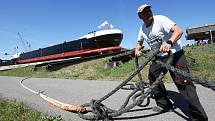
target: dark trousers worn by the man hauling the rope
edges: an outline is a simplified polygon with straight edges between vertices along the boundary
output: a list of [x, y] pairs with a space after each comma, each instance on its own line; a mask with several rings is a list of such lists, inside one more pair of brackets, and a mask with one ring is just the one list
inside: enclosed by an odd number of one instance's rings
[[[168, 60], [168, 58], [159, 57], [156, 57], [155, 59], [160, 60], [162, 62], [166, 62]], [[183, 71], [189, 72], [186, 57], [184, 55], [183, 50], [178, 51], [173, 55], [173, 61], [171, 65]], [[167, 73], [167, 71], [168, 70], [166, 68], [153, 61], [150, 65], [148, 75], [150, 83], [153, 83], [161, 72]], [[193, 82], [182, 75], [176, 74], [170, 70], [169, 72], [179, 92], [182, 94], [182, 96], [188, 103], [188, 113], [190, 115], [190, 120], [207, 121], [208, 117], [199, 101], [199, 98], [196, 93], [196, 87], [194, 86]], [[167, 91], [162, 81], [153, 90], [153, 94], [155, 96], [155, 101], [158, 106], [164, 109], [172, 108], [172, 103], [167, 96]]]

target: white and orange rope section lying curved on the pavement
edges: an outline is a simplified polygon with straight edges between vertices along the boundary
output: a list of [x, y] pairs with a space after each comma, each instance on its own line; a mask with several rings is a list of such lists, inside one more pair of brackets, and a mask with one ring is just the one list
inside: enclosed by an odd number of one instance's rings
[[28, 91], [36, 94], [36, 95], [39, 95], [42, 99], [44, 99], [45, 101], [47, 101], [48, 103], [58, 107], [58, 108], [61, 108], [63, 110], [66, 110], [66, 111], [71, 111], [71, 112], [81, 112], [81, 113], [85, 113], [86, 112], [86, 108], [82, 107], [82, 106], [76, 106], [76, 105], [71, 105], [71, 104], [66, 104], [66, 103], [63, 103], [63, 102], [60, 102], [56, 99], [53, 99], [53, 98], [50, 98], [48, 97], [47, 95], [43, 94], [44, 91], [35, 91], [35, 90], [32, 90], [30, 89], [29, 87], [25, 86], [23, 84], [23, 82], [27, 79], [29, 79], [31, 77], [27, 77], [27, 78], [24, 78], [20, 81], [20, 84], [23, 88], [27, 89]]

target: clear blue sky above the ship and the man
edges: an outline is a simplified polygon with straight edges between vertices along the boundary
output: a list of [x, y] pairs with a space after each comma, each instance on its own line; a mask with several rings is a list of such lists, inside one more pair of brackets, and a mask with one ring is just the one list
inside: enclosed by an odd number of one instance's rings
[[4, 53], [12, 54], [14, 47], [24, 51], [18, 32], [34, 50], [99, 30], [106, 20], [123, 31], [121, 46], [134, 48], [142, 24], [136, 11], [144, 3], [154, 15], [175, 21], [184, 35], [189, 26], [215, 22], [214, 0], [0, 0], [0, 59], [8, 59]]

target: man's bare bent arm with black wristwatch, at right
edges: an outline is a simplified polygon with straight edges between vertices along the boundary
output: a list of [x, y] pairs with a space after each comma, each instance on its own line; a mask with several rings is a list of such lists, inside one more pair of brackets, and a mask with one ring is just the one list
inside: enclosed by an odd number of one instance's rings
[[169, 42], [161, 45], [161, 47], [160, 47], [161, 52], [168, 52], [170, 50], [172, 44], [177, 42], [183, 34], [183, 31], [177, 25], [174, 25], [170, 31], [172, 32], [172, 36], [170, 37]]

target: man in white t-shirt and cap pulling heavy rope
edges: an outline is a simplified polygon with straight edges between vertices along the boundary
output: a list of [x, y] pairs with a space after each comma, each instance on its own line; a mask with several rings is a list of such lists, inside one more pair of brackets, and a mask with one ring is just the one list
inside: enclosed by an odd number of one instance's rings
[[[176, 25], [176, 23], [163, 15], [153, 16], [150, 5], [141, 5], [138, 8], [137, 13], [139, 18], [143, 20], [144, 23], [140, 27], [135, 55], [141, 55], [140, 49], [143, 45], [143, 41], [146, 41], [152, 50], [159, 50], [161, 52], [160, 54], [156, 55], [155, 60], [166, 62], [168, 60], [167, 52], [171, 50], [173, 53], [173, 61], [171, 65], [189, 72], [184, 51], [180, 42], [183, 32]], [[156, 78], [158, 78], [161, 72], [166, 73], [168, 71], [166, 68], [156, 63], [155, 60], [150, 65], [148, 74], [151, 84], [156, 81]], [[196, 87], [194, 86], [193, 82], [177, 73], [172, 71], [169, 72], [179, 92], [183, 95], [188, 103], [190, 119], [193, 121], [207, 121], [208, 117], [199, 102], [196, 93]], [[167, 112], [173, 109], [163, 82], [161, 82], [153, 90], [153, 94], [157, 104], [157, 106], [153, 108], [154, 111]]]

